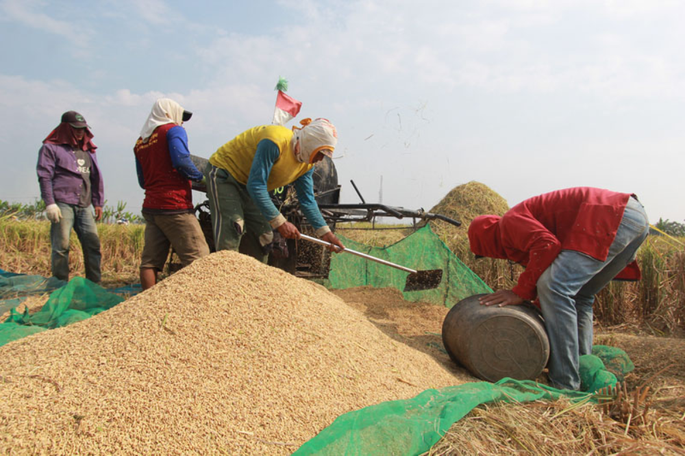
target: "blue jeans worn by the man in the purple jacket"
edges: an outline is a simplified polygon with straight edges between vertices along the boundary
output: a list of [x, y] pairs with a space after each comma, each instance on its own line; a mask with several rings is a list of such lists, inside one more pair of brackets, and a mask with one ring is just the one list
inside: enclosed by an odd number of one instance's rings
[[97, 236], [95, 218], [90, 207], [79, 207], [58, 202], [62, 220], [50, 226], [52, 244], [52, 275], [60, 280], [69, 280], [69, 235], [71, 229], [81, 242], [86, 266], [86, 279], [99, 283], [100, 275], [100, 238]]

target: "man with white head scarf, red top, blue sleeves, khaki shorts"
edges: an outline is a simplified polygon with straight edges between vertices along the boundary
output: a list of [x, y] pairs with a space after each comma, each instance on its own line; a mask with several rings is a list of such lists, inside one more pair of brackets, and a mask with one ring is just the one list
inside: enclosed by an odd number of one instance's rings
[[195, 217], [190, 181], [202, 173], [190, 160], [188, 135], [182, 127], [192, 116], [171, 99], [158, 99], [134, 147], [138, 183], [145, 189], [142, 216], [145, 246], [140, 260], [140, 285], [157, 283], [173, 247], [182, 266], [209, 255], [209, 247]]

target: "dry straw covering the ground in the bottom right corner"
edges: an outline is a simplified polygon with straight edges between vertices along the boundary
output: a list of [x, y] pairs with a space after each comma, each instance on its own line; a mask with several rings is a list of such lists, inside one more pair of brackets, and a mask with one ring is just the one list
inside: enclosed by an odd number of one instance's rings
[[603, 333], [595, 343], [630, 355], [636, 369], [625, 388], [637, 413], [567, 401], [488, 405], [453, 425], [428, 454], [685, 455], [685, 340]]

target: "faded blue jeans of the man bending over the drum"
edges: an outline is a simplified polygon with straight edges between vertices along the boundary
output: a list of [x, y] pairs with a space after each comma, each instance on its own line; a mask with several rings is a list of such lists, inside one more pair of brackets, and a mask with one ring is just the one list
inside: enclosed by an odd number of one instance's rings
[[630, 198], [605, 261], [563, 250], [538, 279], [549, 337], [549, 380], [555, 388], [580, 389], [580, 355], [592, 353], [595, 294], [635, 259], [647, 233], [645, 208]]

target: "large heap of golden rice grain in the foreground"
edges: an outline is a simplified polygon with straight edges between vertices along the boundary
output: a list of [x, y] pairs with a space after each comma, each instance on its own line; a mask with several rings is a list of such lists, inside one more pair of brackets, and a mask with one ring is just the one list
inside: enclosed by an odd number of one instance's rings
[[1, 347], [0, 453], [286, 454], [456, 383], [325, 288], [224, 251]]

